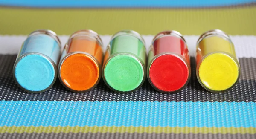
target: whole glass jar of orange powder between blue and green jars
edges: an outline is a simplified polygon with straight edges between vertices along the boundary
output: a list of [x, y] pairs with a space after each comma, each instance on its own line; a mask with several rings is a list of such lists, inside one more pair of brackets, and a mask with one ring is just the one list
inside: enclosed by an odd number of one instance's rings
[[58, 77], [68, 90], [87, 92], [99, 83], [102, 60], [102, 40], [99, 35], [92, 30], [77, 31], [64, 46]]

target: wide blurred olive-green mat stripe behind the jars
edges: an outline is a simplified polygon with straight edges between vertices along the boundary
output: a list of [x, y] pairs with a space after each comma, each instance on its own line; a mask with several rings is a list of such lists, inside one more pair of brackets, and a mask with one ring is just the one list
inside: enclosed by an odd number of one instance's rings
[[256, 6], [212, 9], [22, 9], [0, 8], [0, 34], [26, 35], [36, 29], [52, 29], [70, 35], [79, 29], [113, 34], [133, 29], [156, 34], [175, 29], [184, 35], [200, 35], [222, 29], [230, 35], [256, 35]]

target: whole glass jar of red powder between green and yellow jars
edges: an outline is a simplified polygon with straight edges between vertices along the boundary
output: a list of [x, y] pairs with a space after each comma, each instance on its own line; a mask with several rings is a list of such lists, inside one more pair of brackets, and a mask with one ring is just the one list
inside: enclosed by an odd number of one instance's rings
[[189, 50], [180, 32], [158, 33], [148, 53], [150, 84], [161, 93], [174, 93], [186, 87], [190, 75]]

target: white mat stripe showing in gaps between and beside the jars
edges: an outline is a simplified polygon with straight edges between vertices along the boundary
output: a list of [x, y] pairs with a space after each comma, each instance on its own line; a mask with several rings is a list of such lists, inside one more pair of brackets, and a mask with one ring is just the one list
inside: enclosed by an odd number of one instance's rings
[[[0, 35], [0, 54], [17, 54], [26, 37], [26, 35]], [[69, 36], [60, 35], [59, 37], [62, 46], [64, 46]], [[143, 35], [147, 49], [153, 37], [153, 35]], [[195, 56], [195, 43], [199, 36], [185, 35], [184, 37], [189, 47], [190, 55]], [[111, 39], [111, 35], [102, 35], [101, 38], [105, 49]], [[231, 35], [230, 38], [235, 45], [236, 55], [239, 58], [256, 58], [256, 36]]]

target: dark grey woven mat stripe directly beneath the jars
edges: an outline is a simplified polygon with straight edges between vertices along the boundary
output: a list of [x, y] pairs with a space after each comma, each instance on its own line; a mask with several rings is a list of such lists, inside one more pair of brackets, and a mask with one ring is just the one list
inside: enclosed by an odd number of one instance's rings
[[32, 94], [21, 90], [12, 78], [16, 55], [0, 55], [0, 100], [5, 101], [184, 101], [184, 102], [256, 102], [256, 58], [239, 58], [241, 77], [226, 93], [209, 93], [198, 83], [195, 58], [191, 59], [192, 76], [188, 86], [175, 94], [158, 93], [145, 81], [134, 93], [113, 93], [103, 81], [87, 93], [72, 93], [60, 81], [45, 93]]

